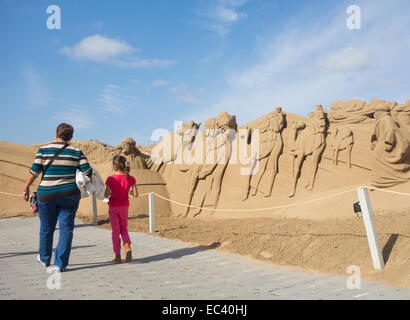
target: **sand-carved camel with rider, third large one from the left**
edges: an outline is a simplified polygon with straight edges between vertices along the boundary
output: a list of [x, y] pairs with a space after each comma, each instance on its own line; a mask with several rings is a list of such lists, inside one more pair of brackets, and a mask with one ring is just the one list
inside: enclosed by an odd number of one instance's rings
[[[258, 172], [249, 175], [245, 194], [241, 197], [242, 201], [248, 199], [250, 189], [252, 189], [252, 196], [256, 195], [258, 190], [262, 191], [265, 197], [271, 196], [275, 177], [278, 173], [279, 155], [283, 149], [281, 133], [284, 126], [285, 117], [281, 107], [277, 107], [274, 112], [265, 115], [259, 122], [256, 128], [259, 130], [259, 155], [257, 159], [254, 159], [254, 161], [259, 161]], [[265, 174], [268, 176], [268, 183], [260, 186], [261, 179]], [[263, 187], [265, 189], [260, 190]]]

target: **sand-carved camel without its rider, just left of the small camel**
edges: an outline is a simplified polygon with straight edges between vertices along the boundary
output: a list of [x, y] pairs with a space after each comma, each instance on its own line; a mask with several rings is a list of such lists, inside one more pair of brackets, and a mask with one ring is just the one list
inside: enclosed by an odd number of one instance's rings
[[[306, 156], [312, 155], [312, 171], [309, 183], [305, 186], [312, 190], [315, 183], [319, 161], [325, 149], [324, 133], [317, 133], [311, 126], [302, 121], [293, 121], [291, 126], [289, 150], [293, 156], [292, 161], [292, 186], [289, 197], [296, 192], [296, 183]], [[296, 167], [296, 170], [295, 170]]]

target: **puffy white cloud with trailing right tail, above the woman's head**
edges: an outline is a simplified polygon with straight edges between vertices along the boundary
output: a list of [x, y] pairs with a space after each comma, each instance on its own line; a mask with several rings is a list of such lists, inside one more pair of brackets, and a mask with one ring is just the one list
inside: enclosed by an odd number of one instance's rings
[[135, 55], [138, 49], [125, 41], [101, 35], [86, 37], [72, 47], [65, 46], [60, 53], [77, 60], [91, 60], [122, 68], [168, 67], [175, 60], [140, 58]]

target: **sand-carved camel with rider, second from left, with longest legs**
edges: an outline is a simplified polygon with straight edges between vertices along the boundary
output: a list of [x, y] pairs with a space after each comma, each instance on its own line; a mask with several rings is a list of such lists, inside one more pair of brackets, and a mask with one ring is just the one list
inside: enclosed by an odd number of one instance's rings
[[[231, 137], [236, 135], [236, 117], [221, 112], [217, 118], [210, 118], [204, 126], [203, 145], [205, 152], [201, 163], [193, 164], [188, 170], [187, 196], [185, 203], [191, 205], [192, 198], [200, 180], [205, 180], [206, 192], [199, 206], [216, 208], [221, 193], [222, 179], [228, 165], [231, 150]], [[183, 213], [189, 214], [189, 207]], [[200, 213], [200, 211], [199, 211]], [[198, 214], [199, 214], [198, 213]]]

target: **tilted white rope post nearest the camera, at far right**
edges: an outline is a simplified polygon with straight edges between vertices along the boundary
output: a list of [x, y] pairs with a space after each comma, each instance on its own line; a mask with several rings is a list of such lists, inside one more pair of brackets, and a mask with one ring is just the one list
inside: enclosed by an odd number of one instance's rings
[[380, 241], [379, 236], [377, 235], [376, 223], [374, 221], [369, 192], [367, 191], [367, 188], [359, 188], [357, 189], [357, 194], [359, 196], [360, 208], [363, 214], [363, 222], [366, 228], [367, 240], [369, 241], [373, 267], [376, 270], [382, 270], [384, 268], [384, 260], [380, 249]]

